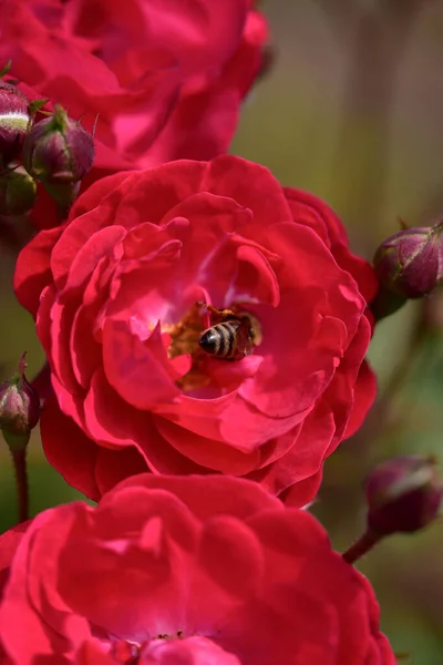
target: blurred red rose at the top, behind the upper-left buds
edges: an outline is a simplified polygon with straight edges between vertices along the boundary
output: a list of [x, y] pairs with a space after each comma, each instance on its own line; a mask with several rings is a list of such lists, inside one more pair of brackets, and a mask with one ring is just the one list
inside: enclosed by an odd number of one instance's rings
[[2, 0], [0, 62], [92, 130], [95, 170], [226, 152], [260, 72], [253, 0]]

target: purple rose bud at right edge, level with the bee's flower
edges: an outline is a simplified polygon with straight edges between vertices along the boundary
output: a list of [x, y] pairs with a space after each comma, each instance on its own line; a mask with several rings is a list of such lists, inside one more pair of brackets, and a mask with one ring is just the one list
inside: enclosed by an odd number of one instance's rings
[[405, 298], [420, 298], [441, 282], [443, 223], [404, 228], [383, 241], [373, 264], [381, 285]]

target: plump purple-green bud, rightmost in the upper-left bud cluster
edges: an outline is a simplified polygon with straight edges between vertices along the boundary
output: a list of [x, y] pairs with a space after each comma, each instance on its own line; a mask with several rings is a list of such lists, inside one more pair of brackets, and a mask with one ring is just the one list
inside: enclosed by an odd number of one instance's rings
[[94, 140], [61, 106], [35, 123], [23, 145], [23, 166], [44, 185], [78, 183], [94, 161]]

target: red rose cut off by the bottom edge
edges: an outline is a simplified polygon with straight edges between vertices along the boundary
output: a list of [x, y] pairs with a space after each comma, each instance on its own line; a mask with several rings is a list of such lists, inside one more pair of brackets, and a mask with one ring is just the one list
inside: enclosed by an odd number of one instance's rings
[[18, 665], [395, 663], [369, 582], [312, 515], [216, 475], [138, 475], [38, 515], [0, 638]]

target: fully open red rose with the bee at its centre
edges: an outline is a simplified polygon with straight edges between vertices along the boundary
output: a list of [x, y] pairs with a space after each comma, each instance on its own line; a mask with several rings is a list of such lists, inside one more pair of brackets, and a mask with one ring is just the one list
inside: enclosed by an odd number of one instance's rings
[[[374, 397], [372, 268], [326, 204], [239, 157], [99, 181], [14, 282], [52, 371], [47, 457], [91, 498], [145, 470], [217, 471], [305, 504]], [[257, 323], [250, 355], [200, 348], [218, 320], [202, 301]]]

